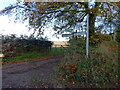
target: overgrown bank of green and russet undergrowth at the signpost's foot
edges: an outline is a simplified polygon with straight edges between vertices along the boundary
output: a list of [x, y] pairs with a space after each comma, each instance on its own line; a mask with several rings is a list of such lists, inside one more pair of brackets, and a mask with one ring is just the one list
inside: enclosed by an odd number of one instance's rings
[[65, 58], [57, 69], [60, 82], [67, 88], [117, 87], [117, 49], [117, 43], [107, 41], [100, 44], [100, 47], [92, 52], [91, 58], [86, 58], [83, 55], [77, 59]]

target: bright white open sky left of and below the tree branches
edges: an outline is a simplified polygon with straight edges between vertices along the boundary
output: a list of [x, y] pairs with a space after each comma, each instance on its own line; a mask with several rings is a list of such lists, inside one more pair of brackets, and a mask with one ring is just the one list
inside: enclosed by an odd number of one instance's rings
[[[15, 3], [17, 0], [0, 0], [0, 10], [4, 9], [5, 7], [9, 6], [10, 4]], [[28, 23], [15, 23], [14, 20], [9, 21], [8, 16], [0, 16], [0, 34], [2, 35], [10, 35], [16, 34], [17, 36], [22, 35], [30, 35], [33, 31], [28, 31], [28, 28], [25, 27]], [[66, 41], [65, 38], [56, 38], [53, 36], [54, 31], [52, 28], [48, 28], [47, 31], [44, 33], [44, 37], [47, 36], [51, 41]]]

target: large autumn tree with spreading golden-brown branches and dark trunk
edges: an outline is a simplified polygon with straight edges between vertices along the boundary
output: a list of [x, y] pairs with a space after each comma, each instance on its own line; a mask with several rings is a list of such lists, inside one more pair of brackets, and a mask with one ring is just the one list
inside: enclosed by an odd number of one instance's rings
[[30, 26], [39, 30], [39, 34], [42, 34], [43, 28], [51, 22], [54, 23], [54, 29], [58, 33], [73, 32], [75, 28], [80, 28], [81, 22], [89, 14], [91, 38], [96, 30], [96, 20], [108, 24], [109, 18], [114, 18], [118, 14], [118, 12], [113, 13], [117, 8], [116, 4], [109, 2], [25, 2], [23, 6], [19, 4], [17, 6], [24, 9], [22, 11], [24, 19], [29, 18]]

